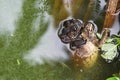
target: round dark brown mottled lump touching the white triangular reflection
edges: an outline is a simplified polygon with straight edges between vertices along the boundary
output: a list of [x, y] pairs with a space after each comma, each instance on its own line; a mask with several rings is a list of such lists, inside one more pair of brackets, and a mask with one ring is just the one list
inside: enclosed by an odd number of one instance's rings
[[70, 43], [80, 34], [83, 22], [79, 19], [66, 19], [61, 21], [58, 36], [63, 43]]

